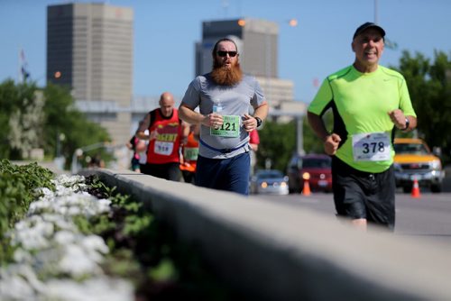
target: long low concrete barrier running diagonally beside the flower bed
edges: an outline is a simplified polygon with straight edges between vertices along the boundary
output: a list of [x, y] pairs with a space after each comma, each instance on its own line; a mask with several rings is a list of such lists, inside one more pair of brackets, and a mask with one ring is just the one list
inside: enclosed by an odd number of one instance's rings
[[127, 170], [81, 174], [143, 201], [249, 299], [451, 300], [449, 244]]

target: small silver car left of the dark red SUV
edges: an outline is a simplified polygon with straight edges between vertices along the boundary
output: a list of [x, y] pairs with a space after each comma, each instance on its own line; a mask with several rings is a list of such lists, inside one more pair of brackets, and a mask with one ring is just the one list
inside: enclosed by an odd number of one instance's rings
[[251, 194], [288, 195], [288, 177], [281, 170], [258, 169], [250, 182]]

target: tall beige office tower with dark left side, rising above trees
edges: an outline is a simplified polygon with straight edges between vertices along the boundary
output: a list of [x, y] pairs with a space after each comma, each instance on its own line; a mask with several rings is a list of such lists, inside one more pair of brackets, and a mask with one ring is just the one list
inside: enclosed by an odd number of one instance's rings
[[48, 6], [47, 81], [69, 87], [78, 108], [116, 143], [128, 141], [133, 10], [102, 3]]

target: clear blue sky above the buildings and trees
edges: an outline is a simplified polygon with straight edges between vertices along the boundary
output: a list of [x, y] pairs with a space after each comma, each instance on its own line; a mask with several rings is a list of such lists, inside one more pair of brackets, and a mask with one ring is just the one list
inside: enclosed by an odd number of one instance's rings
[[[183, 96], [194, 77], [194, 43], [201, 40], [202, 22], [209, 20], [250, 17], [279, 23], [279, 77], [292, 80], [295, 98], [305, 102], [315, 95], [316, 81], [353, 62], [355, 28], [375, 18], [398, 44], [397, 50], [385, 50], [384, 66], [398, 66], [402, 50], [430, 59], [434, 50], [451, 53], [449, 0], [104, 2], [133, 7], [135, 96], [159, 96], [166, 90]], [[62, 3], [67, 1], [0, 0], [0, 81], [17, 78], [23, 49], [32, 78], [45, 85], [46, 6]], [[297, 27], [289, 26], [292, 18]]]

